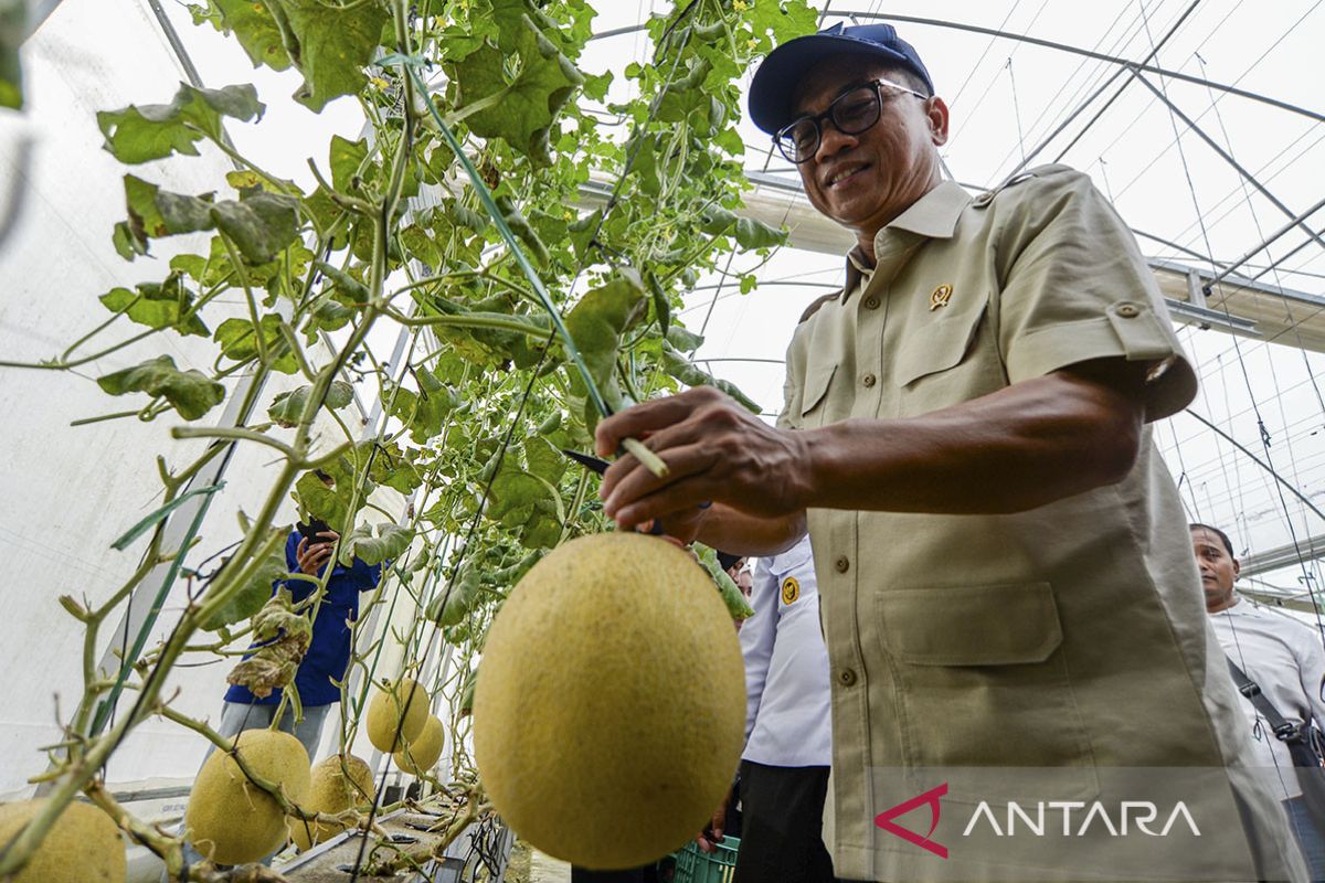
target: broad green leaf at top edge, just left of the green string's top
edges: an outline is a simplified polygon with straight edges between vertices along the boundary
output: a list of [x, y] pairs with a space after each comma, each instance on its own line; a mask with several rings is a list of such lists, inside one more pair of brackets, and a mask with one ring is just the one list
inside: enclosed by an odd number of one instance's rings
[[295, 45], [290, 48], [294, 66], [303, 74], [303, 86], [294, 98], [314, 111], [329, 101], [358, 93], [366, 82], [363, 68], [382, 41], [391, 17], [384, 4], [363, 0], [338, 8], [325, 0], [265, 0], [281, 9]]

